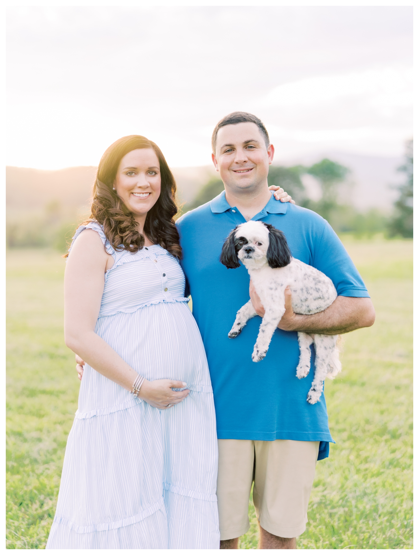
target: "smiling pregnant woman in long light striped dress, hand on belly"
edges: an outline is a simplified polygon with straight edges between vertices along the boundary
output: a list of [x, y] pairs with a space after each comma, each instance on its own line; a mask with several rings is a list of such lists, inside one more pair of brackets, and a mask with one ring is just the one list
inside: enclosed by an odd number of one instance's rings
[[47, 549], [219, 548], [214, 400], [174, 196], [144, 137], [100, 160], [65, 271], [65, 342], [86, 364]]

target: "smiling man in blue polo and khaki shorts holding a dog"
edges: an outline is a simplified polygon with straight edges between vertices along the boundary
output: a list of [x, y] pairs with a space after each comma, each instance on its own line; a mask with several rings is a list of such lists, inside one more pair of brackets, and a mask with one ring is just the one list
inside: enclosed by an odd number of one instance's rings
[[[251, 485], [260, 525], [261, 549], [296, 548], [305, 530], [316, 461], [329, 455], [324, 395], [306, 401], [314, 375], [314, 352], [306, 379], [298, 380], [297, 331], [340, 334], [371, 326], [375, 313], [362, 279], [330, 225], [310, 210], [277, 202], [267, 185], [274, 147], [252, 114], [235, 112], [215, 127], [213, 162], [225, 191], [178, 220], [181, 261], [193, 314], [204, 341], [214, 390], [219, 443], [217, 499], [220, 548], [238, 548], [249, 529]], [[251, 360], [260, 318], [228, 339], [236, 311], [249, 299], [244, 266], [227, 270], [219, 262], [226, 236], [246, 220], [261, 220], [284, 231], [292, 255], [324, 272], [338, 297], [310, 316], [286, 311], [264, 360]], [[261, 316], [264, 309], [250, 284]], [[82, 369], [80, 367], [79, 371]], [[81, 372], [80, 372], [81, 373]]]

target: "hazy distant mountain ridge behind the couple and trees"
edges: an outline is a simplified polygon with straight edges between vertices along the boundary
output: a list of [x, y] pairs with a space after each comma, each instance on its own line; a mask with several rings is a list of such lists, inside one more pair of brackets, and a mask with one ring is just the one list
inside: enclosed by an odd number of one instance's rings
[[[347, 153], [325, 153], [328, 157], [351, 169], [350, 185], [346, 187], [348, 200], [356, 208], [379, 208], [390, 211], [397, 191], [392, 184], [400, 183], [402, 176], [396, 169], [402, 158], [367, 157]], [[317, 157], [319, 158], [319, 157]], [[320, 158], [319, 158], [320, 159]], [[309, 164], [315, 160], [302, 160]], [[97, 168], [78, 166], [62, 170], [33, 168], [6, 168], [6, 207], [9, 211], [38, 211], [48, 203], [57, 201], [65, 209], [88, 210], [89, 199]], [[178, 184], [179, 200], [189, 203], [200, 188], [212, 177], [219, 176], [213, 166], [173, 168]], [[310, 184], [306, 184], [310, 186]]]

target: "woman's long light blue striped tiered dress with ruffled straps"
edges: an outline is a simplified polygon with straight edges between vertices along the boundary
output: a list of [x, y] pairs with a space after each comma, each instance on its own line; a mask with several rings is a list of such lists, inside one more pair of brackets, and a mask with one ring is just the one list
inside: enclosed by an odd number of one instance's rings
[[[85, 365], [47, 549], [218, 549], [211, 381], [178, 260], [159, 245], [115, 251], [95, 332], [148, 380], [185, 381], [168, 410]], [[73, 239], [73, 241], [74, 241]]]

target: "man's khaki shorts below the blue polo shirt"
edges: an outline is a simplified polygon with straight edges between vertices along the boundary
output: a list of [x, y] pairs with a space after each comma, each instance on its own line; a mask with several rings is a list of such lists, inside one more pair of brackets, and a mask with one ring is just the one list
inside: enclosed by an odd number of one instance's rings
[[281, 538], [302, 534], [318, 454], [318, 441], [218, 440], [220, 539], [248, 531], [253, 481], [260, 526]]

